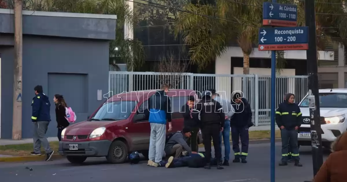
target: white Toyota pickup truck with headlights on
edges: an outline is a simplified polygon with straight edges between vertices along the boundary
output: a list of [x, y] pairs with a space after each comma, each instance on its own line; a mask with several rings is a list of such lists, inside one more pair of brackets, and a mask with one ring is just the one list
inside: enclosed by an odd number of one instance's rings
[[[299, 146], [311, 145], [311, 118], [307, 96], [299, 103], [303, 118], [298, 130]], [[324, 117], [321, 122], [322, 145], [330, 148], [331, 142], [347, 129], [347, 89], [320, 89], [319, 102], [320, 116]]]

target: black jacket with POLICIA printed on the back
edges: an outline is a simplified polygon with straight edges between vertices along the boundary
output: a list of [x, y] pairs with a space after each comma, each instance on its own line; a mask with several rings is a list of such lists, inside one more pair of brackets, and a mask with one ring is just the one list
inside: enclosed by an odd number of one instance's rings
[[[200, 122], [198, 120], [199, 113]], [[203, 97], [201, 102], [196, 104], [192, 116], [200, 123], [201, 128], [208, 124], [219, 124], [221, 127], [224, 126], [225, 113], [223, 112], [222, 106], [209, 96]]]

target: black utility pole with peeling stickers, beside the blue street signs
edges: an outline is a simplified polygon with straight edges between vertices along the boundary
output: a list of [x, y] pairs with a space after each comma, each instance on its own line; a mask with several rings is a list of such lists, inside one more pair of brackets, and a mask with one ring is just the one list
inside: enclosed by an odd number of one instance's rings
[[323, 165], [322, 133], [319, 112], [318, 68], [316, 48], [315, 1], [305, 0], [305, 18], [308, 26], [307, 75], [308, 100], [311, 116], [311, 144], [313, 175], [316, 175]]

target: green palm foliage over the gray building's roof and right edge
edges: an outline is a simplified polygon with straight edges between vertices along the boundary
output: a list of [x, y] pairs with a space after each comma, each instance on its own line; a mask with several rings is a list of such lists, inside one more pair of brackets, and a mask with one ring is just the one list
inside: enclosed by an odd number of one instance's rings
[[131, 71], [144, 63], [142, 43], [124, 38], [124, 24], [127, 22], [131, 30], [134, 25], [133, 11], [125, 0], [27, 0], [25, 9], [117, 15], [116, 39], [110, 42], [109, 64], [118, 68], [117, 63], [126, 63]]

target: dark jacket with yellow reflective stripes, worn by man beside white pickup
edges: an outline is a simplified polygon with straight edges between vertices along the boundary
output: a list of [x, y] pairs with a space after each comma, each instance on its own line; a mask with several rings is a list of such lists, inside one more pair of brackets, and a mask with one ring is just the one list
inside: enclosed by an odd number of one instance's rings
[[284, 126], [286, 129], [291, 130], [296, 126], [300, 127], [302, 121], [302, 113], [296, 104], [282, 102], [276, 110], [276, 123], [278, 127]]

